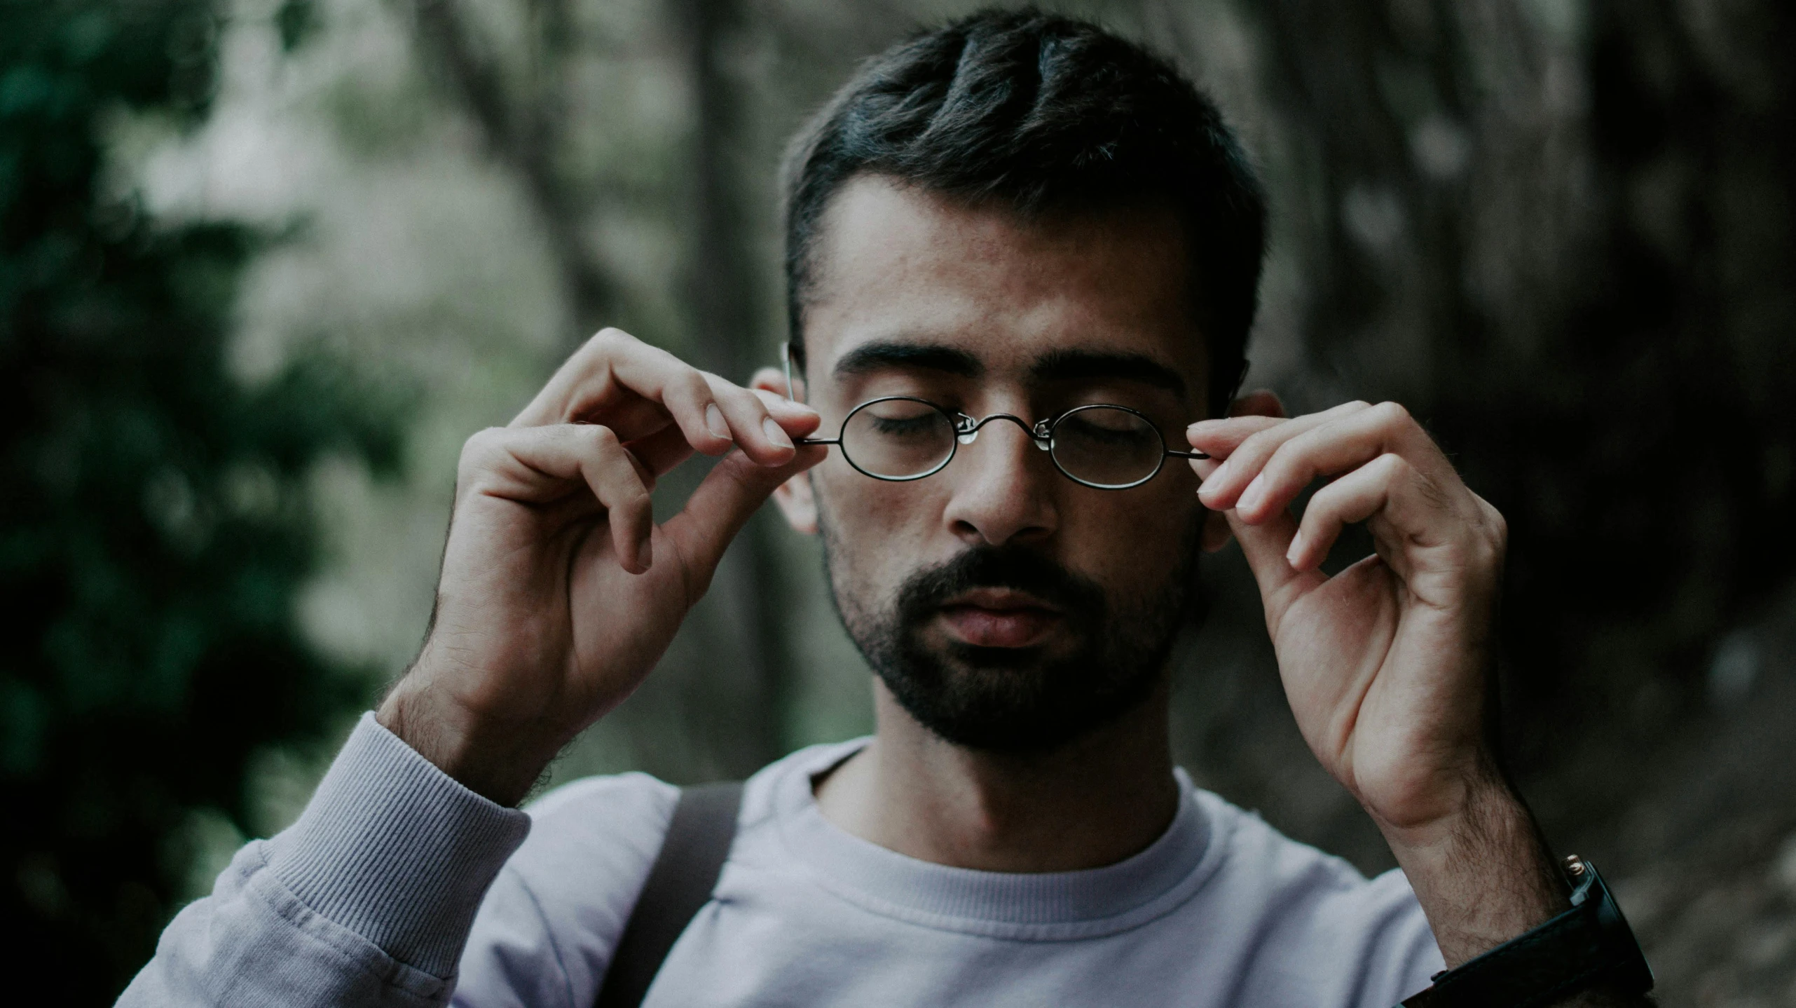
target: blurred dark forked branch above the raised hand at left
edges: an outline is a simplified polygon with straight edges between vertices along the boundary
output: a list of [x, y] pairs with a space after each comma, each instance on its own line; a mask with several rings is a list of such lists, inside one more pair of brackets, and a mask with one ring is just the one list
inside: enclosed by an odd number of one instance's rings
[[[546, 59], [537, 70], [544, 77], [559, 77], [571, 36], [564, 0], [537, 0], [541, 18], [539, 38]], [[539, 86], [524, 108], [515, 108], [505, 93], [499, 68], [481, 56], [472, 32], [456, 7], [456, 0], [417, 0], [417, 32], [420, 45], [438, 61], [449, 77], [454, 97], [480, 126], [487, 149], [517, 172], [524, 192], [542, 219], [544, 234], [568, 287], [575, 323], [580, 332], [594, 329], [616, 307], [611, 280], [596, 255], [580, 234], [580, 199], [555, 171], [555, 151], [562, 137], [562, 102], [559, 88]]]

